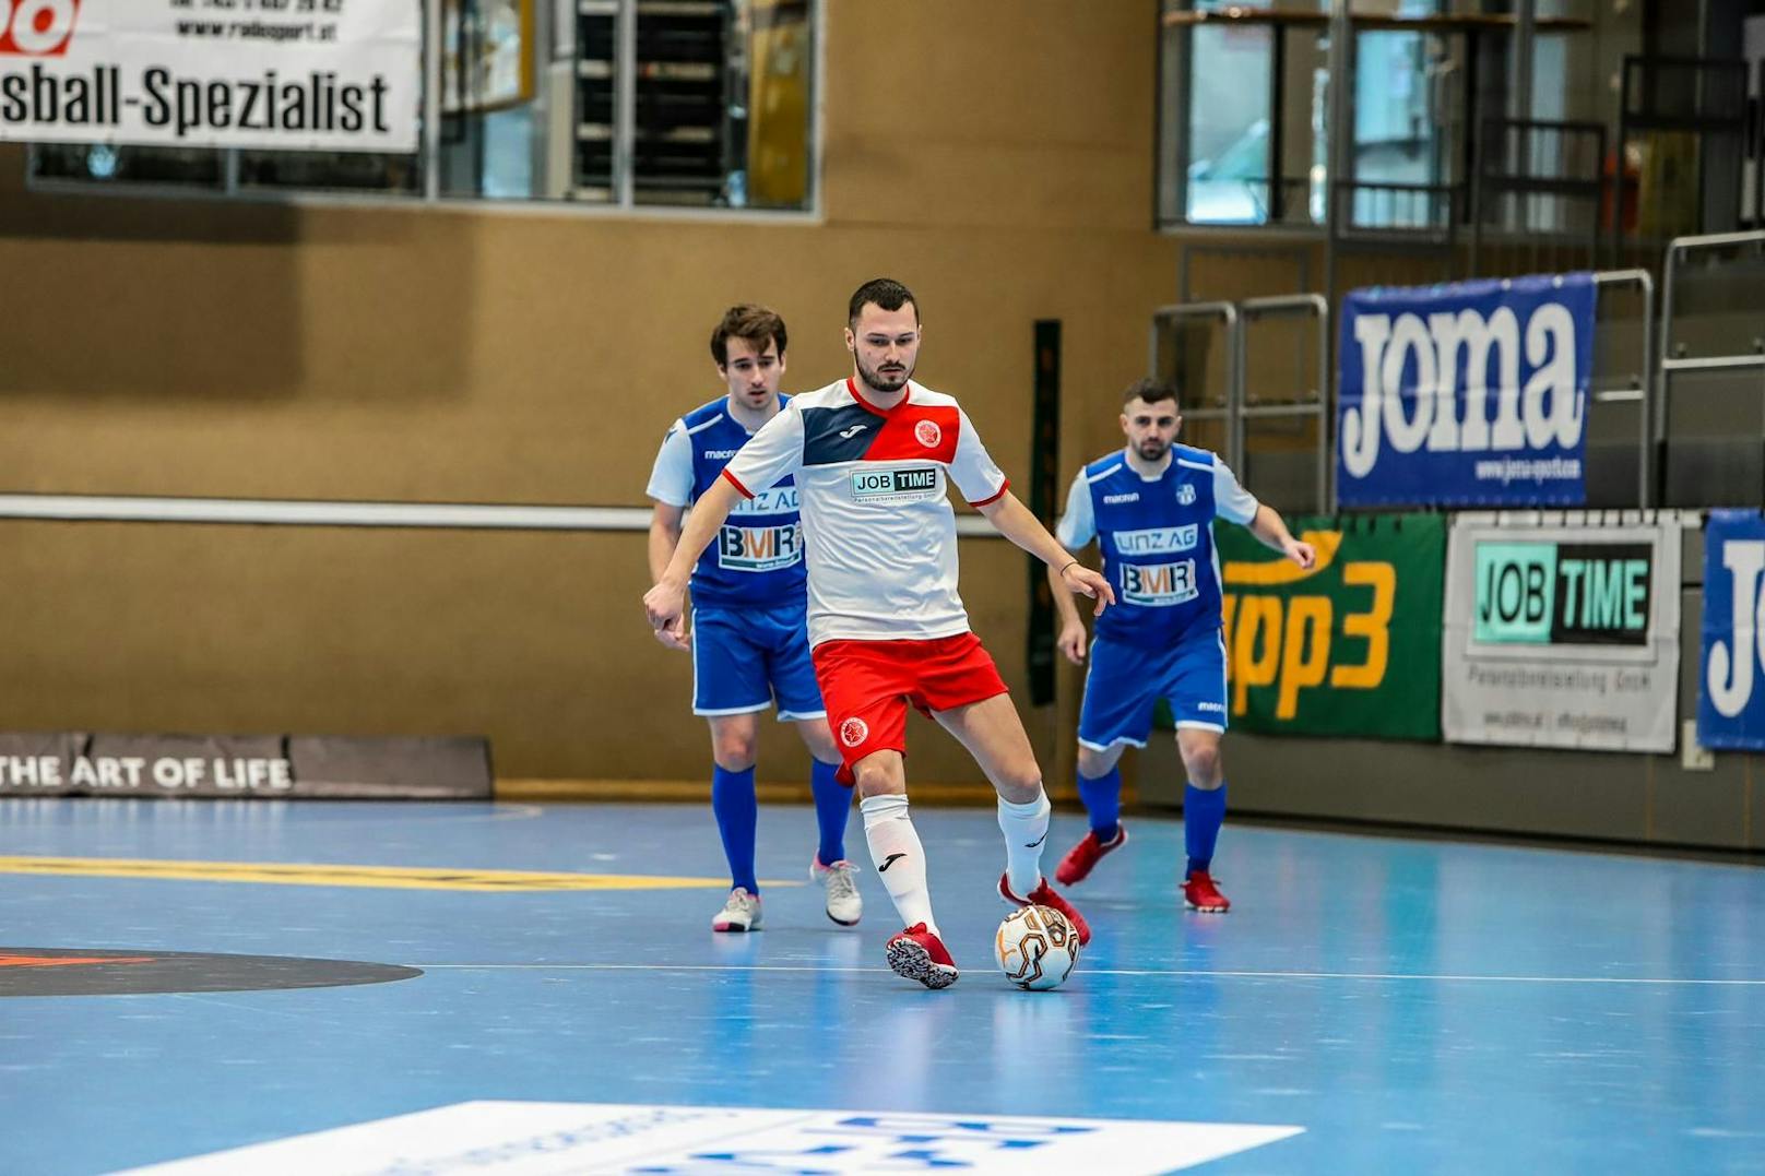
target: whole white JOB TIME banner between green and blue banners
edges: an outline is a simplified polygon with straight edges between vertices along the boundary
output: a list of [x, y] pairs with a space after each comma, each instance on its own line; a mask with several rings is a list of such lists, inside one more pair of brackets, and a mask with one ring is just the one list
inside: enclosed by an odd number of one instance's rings
[[1446, 562], [1440, 726], [1453, 743], [1671, 752], [1679, 514], [1461, 514]]

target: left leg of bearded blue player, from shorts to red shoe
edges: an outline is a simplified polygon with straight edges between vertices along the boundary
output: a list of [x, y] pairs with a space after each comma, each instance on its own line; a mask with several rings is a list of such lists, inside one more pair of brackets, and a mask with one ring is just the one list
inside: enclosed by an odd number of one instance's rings
[[1091, 832], [1054, 871], [1063, 886], [1084, 881], [1103, 856], [1128, 844], [1121, 823], [1121, 752], [1145, 747], [1158, 706], [1158, 650], [1096, 637], [1078, 708], [1078, 798]]

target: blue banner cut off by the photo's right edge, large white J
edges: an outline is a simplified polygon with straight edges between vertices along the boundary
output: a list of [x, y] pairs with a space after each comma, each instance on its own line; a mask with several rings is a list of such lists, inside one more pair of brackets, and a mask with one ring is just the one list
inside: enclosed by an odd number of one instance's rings
[[1703, 528], [1703, 657], [1698, 662], [1698, 743], [1765, 749], [1765, 648], [1760, 579], [1765, 516], [1712, 510]]

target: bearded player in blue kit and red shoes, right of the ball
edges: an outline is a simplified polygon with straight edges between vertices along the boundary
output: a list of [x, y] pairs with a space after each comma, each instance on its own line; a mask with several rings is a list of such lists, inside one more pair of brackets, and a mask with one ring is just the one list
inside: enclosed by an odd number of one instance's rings
[[[1221, 517], [1248, 526], [1299, 567], [1311, 567], [1315, 556], [1310, 544], [1292, 537], [1274, 509], [1237, 484], [1225, 463], [1207, 450], [1177, 445], [1181, 427], [1175, 387], [1153, 380], [1130, 385], [1121, 410], [1128, 445], [1078, 471], [1055, 531], [1071, 551], [1098, 540], [1103, 572], [1115, 588], [1115, 607], [1096, 622], [1078, 712], [1078, 796], [1091, 814], [1091, 832], [1054, 876], [1070, 886], [1103, 855], [1128, 842], [1115, 765], [1124, 747], [1145, 747], [1153, 710], [1163, 697], [1175, 715], [1177, 750], [1190, 777], [1183, 798], [1190, 858], [1183, 901], [1191, 911], [1223, 913], [1232, 904], [1209, 872], [1225, 821], [1220, 736], [1227, 727], [1213, 521]], [[1080, 664], [1085, 627], [1071, 593], [1055, 586], [1059, 648]]]

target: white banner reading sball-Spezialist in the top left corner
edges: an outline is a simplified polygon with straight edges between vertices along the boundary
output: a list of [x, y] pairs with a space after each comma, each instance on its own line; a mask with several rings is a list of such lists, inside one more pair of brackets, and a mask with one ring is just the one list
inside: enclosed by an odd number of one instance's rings
[[420, 0], [0, 0], [0, 139], [417, 150]]

